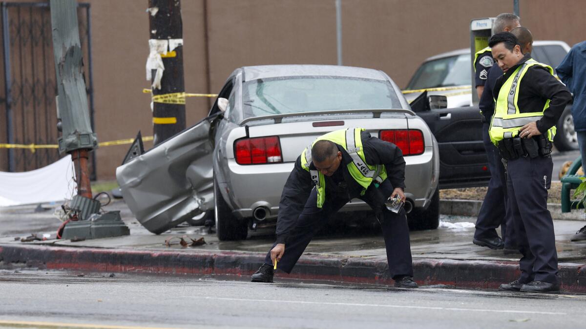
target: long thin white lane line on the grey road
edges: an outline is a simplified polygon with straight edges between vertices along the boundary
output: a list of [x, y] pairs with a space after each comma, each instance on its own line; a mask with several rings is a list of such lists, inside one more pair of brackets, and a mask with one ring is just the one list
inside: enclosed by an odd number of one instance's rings
[[563, 312], [541, 312], [541, 311], [520, 311], [520, 310], [489, 310], [489, 309], [460, 309], [458, 307], [432, 307], [432, 306], [411, 306], [411, 305], [391, 305], [391, 304], [362, 304], [362, 303], [332, 303], [326, 301], [304, 301], [304, 300], [271, 300], [271, 299], [244, 299], [244, 298], [222, 298], [222, 297], [205, 297], [213, 300], [233, 300], [233, 301], [265, 301], [267, 303], [291, 303], [291, 304], [312, 304], [312, 305], [333, 305], [333, 306], [366, 306], [366, 307], [390, 307], [393, 309], [420, 309], [420, 310], [440, 310], [440, 311], [470, 311], [470, 312], [494, 312], [494, 313], [517, 313], [517, 314], [543, 314], [551, 316], [565, 316]]

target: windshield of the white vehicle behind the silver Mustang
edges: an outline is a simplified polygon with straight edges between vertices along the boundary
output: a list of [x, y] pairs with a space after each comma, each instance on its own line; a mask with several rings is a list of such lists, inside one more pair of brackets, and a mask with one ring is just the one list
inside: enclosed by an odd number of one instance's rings
[[468, 85], [471, 77], [470, 70], [470, 54], [430, 60], [418, 68], [406, 89]]

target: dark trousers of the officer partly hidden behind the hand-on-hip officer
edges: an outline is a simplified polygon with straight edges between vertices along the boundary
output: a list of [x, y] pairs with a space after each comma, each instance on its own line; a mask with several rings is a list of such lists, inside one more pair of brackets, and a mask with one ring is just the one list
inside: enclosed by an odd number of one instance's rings
[[513, 229], [513, 216], [506, 206], [507, 186], [505, 167], [501, 162], [498, 149], [490, 141], [488, 129], [490, 123], [482, 124], [482, 142], [488, 157], [488, 169], [490, 181], [488, 190], [482, 202], [482, 207], [476, 220], [475, 239], [490, 239], [498, 237], [496, 228], [500, 225], [500, 234], [507, 248], [515, 248], [515, 235]]

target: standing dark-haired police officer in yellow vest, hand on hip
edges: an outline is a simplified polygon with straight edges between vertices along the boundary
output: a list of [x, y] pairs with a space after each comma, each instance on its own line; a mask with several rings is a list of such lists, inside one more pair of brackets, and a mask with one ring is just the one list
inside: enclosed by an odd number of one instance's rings
[[496, 80], [493, 94], [498, 98], [489, 135], [506, 162], [507, 201], [523, 255], [521, 276], [501, 285], [500, 290], [559, 292], [556, 237], [547, 210], [547, 190], [555, 124], [571, 94], [553, 76], [553, 68], [533, 60], [530, 53], [523, 55], [512, 33], [492, 36], [489, 46], [505, 73]]

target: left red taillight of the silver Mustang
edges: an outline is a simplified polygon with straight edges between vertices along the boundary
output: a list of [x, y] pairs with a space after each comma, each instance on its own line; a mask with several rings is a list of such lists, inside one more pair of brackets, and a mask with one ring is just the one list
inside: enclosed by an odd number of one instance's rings
[[283, 162], [277, 136], [239, 139], [234, 143], [234, 153], [239, 165]]

